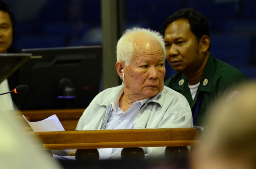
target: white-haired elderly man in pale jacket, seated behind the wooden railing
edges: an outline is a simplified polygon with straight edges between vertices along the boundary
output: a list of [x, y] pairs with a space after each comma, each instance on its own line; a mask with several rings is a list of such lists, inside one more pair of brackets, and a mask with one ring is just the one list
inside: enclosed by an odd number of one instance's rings
[[[116, 71], [123, 84], [100, 92], [84, 111], [76, 130], [193, 127], [186, 98], [164, 86], [165, 50], [160, 33], [128, 29], [118, 40], [116, 53]], [[112, 158], [120, 158], [121, 150], [112, 149]], [[164, 150], [144, 148], [145, 158], [164, 158]]]

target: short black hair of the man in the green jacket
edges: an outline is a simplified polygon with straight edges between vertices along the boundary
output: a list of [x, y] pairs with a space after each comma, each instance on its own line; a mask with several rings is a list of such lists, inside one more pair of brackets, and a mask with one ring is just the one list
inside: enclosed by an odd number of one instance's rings
[[[169, 16], [164, 21], [164, 24], [163, 24], [163, 29], [162, 29], [163, 35], [167, 26], [178, 19], [188, 19], [190, 30], [196, 36], [196, 39], [198, 41], [204, 35], [207, 35], [210, 38], [209, 26], [205, 16], [197, 12], [194, 8], [183, 8], [176, 11], [171, 16]], [[211, 43], [208, 48], [208, 51], [210, 51], [210, 49], [211, 49]]]

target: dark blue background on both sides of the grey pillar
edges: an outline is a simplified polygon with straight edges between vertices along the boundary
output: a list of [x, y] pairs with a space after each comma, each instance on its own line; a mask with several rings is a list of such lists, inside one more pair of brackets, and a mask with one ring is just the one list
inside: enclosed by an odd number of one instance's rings
[[[4, 1], [17, 19], [15, 48], [102, 44], [100, 0]], [[255, 0], [124, 0], [124, 28], [161, 31], [164, 20], [184, 7], [206, 16], [213, 56], [256, 77]], [[168, 63], [166, 69], [166, 77], [175, 73]]]

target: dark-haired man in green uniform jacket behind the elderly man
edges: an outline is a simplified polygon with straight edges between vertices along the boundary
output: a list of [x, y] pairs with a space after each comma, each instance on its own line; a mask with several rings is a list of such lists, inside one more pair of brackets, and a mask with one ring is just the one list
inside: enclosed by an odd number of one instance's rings
[[[194, 123], [204, 123], [212, 102], [220, 94], [231, 101], [239, 94], [235, 86], [247, 77], [210, 55], [209, 26], [204, 15], [195, 9], [181, 9], [169, 16], [163, 34], [166, 60], [177, 71], [164, 85], [186, 97]], [[227, 92], [231, 87], [233, 90]]]

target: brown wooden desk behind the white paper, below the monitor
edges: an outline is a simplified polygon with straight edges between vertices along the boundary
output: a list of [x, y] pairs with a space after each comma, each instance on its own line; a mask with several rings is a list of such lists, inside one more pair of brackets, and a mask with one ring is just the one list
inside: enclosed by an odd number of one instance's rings
[[21, 110], [29, 121], [41, 121], [56, 114], [65, 130], [75, 130], [79, 118], [84, 113], [82, 109], [52, 109], [52, 110]]

